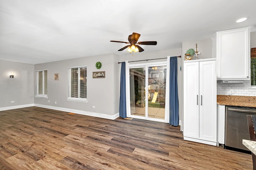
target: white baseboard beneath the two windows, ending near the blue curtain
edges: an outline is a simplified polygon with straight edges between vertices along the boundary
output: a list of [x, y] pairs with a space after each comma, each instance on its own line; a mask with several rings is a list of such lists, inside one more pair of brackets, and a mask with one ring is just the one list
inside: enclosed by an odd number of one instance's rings
[[81, 114], [81, 115], [100, 117], [100, 118], [111, 119], [111, 120], [114, 120], [119, 117], [119, 113], [116, 113], [114, 115], [108, 115], [108, 114], [104, 114], [104, 113], [95, 113], [95, 112], [90, 112], [90, 111], [82, 111], [82, 110], [68, 109], [68, 108], [63, 108], [63, 107], [47, 106], [47, 105], [42, 105], [42, 104], [34, 104], [34, 106], [43, 107], [46, 109], [66, 111], [66, 112], [70, 112], [70, 113], [77, 113], [77, 114]]

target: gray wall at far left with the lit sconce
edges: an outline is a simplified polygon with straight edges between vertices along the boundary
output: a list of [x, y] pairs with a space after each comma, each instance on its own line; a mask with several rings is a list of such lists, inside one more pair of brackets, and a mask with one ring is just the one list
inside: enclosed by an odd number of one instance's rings
[[0, 60], [0, 96], [0, 107], [34, 104], [34, 65]]

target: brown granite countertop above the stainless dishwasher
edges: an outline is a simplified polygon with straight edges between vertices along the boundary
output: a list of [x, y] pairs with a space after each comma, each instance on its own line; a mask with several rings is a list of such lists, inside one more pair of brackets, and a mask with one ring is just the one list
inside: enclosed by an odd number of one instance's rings
[[217, 95], [217, 104], [226, 106], [256, 107], [256, 97]]

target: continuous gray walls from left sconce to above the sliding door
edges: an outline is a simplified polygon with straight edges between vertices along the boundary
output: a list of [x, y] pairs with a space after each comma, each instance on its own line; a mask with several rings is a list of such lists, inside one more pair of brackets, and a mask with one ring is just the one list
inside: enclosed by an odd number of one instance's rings
[[[144, 59], [166, 58], [167, 56], [179, 56], [182, 55], [181, 51], [181, 48], [179, 48], [151, 53], [146, 53], [145, 51], [143, 53], [135, 53], [134, 55], [128, 54], [123, 56], [108, 54], [35, 65], [1, 61], [1, 72], [4, 75], [2, 75], [1, 80], [4, 81], [1, 81], [0, 92], [1, 96], [3, 94], [5, 98], [1, 98], [0, 107], [16, 106], [22, 104], [39, 104], [44, 106], [114, 115], [119, 112], [121, 64], [118, 64], [118, 62], [125, 60], [136, 61]], [[121, 53], [127, 54], [124, 52]], [[95, 67], [95, 63], [97, 61], [102, 63], [102, 68], [100, 71], [106, 71], [106, 78], [92, 78], [92, 72], [99, 71]], [[147, 61], [147, 63], [160, 61], [166, 61], [166, 59]], [[144, 62], [146, 61], [134, 62], [133, 64]], [[180, 70], [181, 64], [182, 58], [178, 58], [178, 95], [180, 104], [182, 103], [182, 79]], [[87, 66], [88, 103], [67, 101], [68, 67], [82, 65]], [[36, 70], [48, 70], [48, 98], [34, 98], [34, 71]], [[15, 73], [14, 79], [9, 78], [9, 73], [12, 71]], [[54, 80], [54, 73], [60, 73], [60, 80]], [[26, 81], [26, 84], [24, 81]], [[15, 83], [11, 84], [11, 82]], [[12, 90], [15, 90], [13, 92], [14, 95], [10, 95], [9, 91]], [[17, 91], [20, 91], [20, 93], [17, 93]], [[26, 97], [26, 100], [24, 100], [24, 97]], [[15, 103], [11, 104], [10, 101], [13, 100]], [[95, 108], [92, 108], [92, 106], [95, 106]], [[182, 107], [180, 106], [180, 116], [182, 113], [181, 109]]]

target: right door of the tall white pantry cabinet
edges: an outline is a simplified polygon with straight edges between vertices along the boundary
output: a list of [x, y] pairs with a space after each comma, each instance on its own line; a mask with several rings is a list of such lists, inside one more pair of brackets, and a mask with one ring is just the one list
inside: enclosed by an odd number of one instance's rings
[[199, 62], [200, 139], [217, 141], [216, 62]]

